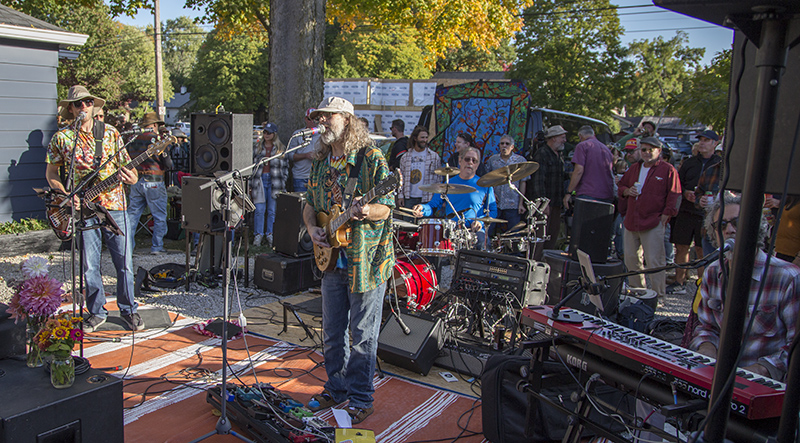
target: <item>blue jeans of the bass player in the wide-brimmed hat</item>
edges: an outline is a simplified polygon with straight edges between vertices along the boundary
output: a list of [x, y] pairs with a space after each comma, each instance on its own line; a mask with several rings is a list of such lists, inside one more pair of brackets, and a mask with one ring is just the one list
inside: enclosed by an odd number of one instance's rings
[[[117, 222], [122, 232], [136, 232], [136, 226], [128, 223], [129, 217], [125, 211], [109, 211], [114, 221]], [[87, 226], [97, 225], [96, 218], [86, 221]], [[102, 237], [102, 238], [101, 238]], [[103, 307], [106, 304], [106, 292], [103, 289], [103, 276], [101, 275], [102, 256], [100, 255], [102, 242], [111, 254], [114, 269], [117, 270], [117, 305], [123, 315], [136, 312], [138, 304], [133, 299], [133, 259], [131, 259], [131, 242], [123, 235], [114, 235], [105, 228], [91, 229], [83, 232], [83, 272], [86, 275], [86, 309], [90, 314], [106, 317], [108, 311]]]

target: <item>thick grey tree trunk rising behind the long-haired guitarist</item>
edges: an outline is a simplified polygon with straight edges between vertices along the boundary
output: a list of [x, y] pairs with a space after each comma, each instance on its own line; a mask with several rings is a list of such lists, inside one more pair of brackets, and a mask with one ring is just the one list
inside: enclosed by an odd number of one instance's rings
[[325, 0], [270, 2], [269, 121], [284, 143], [322, 100]]

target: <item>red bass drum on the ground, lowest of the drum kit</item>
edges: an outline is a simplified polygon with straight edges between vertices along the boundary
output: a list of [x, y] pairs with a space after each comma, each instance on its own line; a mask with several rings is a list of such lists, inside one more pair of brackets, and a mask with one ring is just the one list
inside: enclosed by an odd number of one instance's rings
[[393, 280], [397, 296], [406, 298], [409, 309], [424, 311], [436, 295], [436, 271], [421, 258], [398, 257]]

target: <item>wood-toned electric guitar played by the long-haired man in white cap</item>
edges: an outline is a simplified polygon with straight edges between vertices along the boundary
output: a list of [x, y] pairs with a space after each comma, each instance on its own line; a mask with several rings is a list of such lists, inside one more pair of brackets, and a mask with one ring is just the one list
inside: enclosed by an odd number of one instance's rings
[[[396, 190], [401, 186], [401, 183], [400, 172], [395, 171], [394, 174], [386, 177], [364, 194], [361, 197], [361, 201], [364, 204], [370, 203], [372, 200]], [[348, 222], [353, 218], [352, 209], [353, 206], [351, 205], [350, 208], [342, 212], [341, 207], [334, 206], [330, 214], [322, 211], [317, 213], [317, 225], [324, 227], [328, 244], [331, 246], [330, 248], [325, 248], [318, 246], [316, 243], [314, 244], [314, 260], [320, 271], [332, 271], [336, 267], [339, 248], [350, 244], [350, 225]]]

